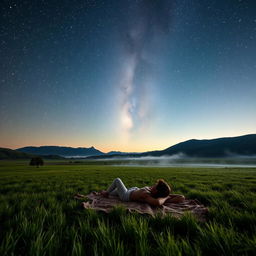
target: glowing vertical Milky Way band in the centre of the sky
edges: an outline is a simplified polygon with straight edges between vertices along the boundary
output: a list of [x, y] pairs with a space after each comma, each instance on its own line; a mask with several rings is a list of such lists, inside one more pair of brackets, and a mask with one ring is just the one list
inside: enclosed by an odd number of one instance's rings
[[[144, 128], [150, 120], [150, 55], [148, 47], [169, 33], [171, 5], [166, 1], [141, 1], [131, 9], [122, 34], [125, 63], [120, 82], [121, 121], [126, 135]], [[137, 19], [133, 19], [137, 17]], [[142, 77], [141, 79], [138, 76]]]

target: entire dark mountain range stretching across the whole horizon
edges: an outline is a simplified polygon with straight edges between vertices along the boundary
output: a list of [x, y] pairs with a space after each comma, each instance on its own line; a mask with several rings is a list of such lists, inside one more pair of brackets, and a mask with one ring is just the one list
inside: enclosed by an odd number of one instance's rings
[[80, 157], [89, 159], [113, 157], [145, 157], [171, 156], [183, 154], [187, 157], [230, 157], [256, 156], [256, 134], [238, 137], [226, 137], [210, 140], [187, 140], [164, 150], [148, 151], [144, 153], [125, 153], [111, 151], [103, 153], [94, 147], [72, 148], [60, 146], [23, 147], [16, 150], [0, 148], [0, 159], [22, 159], [41, 155], [45, 158]]

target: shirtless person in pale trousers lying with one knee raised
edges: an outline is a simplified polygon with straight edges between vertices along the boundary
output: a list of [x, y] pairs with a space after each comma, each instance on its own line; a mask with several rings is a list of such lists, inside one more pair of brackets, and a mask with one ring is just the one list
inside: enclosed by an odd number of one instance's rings
[[168, 199], [170, 203], [181, 203], [185, 200], [183, 195], [170, 194], [171, 188], [163, 179], [157, 180], [152, 187], [132, 187], [127, 189], [120, 178], [114, 179], [107, 190], [100, 194], [104, 197], [118, 196], [121, 201], [136, 201], [148, 203], [151, 206], [161, 206]]

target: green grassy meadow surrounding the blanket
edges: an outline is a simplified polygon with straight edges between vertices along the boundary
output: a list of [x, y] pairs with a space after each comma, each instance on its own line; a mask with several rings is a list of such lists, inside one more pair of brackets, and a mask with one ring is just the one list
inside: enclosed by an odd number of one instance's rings
[[[256, 169], [119, 167], [0, 161], [0, 255], [255, 255]], [[105, 189], [164, 178], [174, 193], [209, 207], [206, 223], [111, 214], [80, 208], [73, 199]]]

